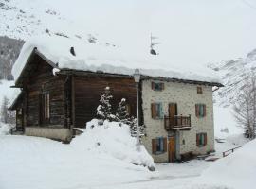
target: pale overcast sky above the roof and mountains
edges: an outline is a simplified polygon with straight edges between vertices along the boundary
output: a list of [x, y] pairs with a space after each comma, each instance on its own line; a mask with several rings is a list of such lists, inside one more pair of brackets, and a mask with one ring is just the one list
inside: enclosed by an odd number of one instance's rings
[[157, 50], [166, 64], [219, 62], [245, 57], [256, 48], [253, 0], [68, 2], [55, 6], [83, 30], [120, 46], [149, 51], [152, 32], [159, 37]]

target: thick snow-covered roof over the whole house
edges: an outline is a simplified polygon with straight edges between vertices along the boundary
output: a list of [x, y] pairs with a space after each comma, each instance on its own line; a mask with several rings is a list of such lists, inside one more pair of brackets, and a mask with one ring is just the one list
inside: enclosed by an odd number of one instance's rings
[[[150, 55], [146, 51], [138, 55], [133, 52], [133, 49], [124, 50], [119, 46], [88, 43], [79, 39], [48, 35], [32, 38], [24, 44], [20, 56], [12, 68], [15, 80], [21, 75], [35, 47], [47, 60], [58, 65], [60, 69], [133, 75], [135, 69], [138, 68], [142, 75], [150, 77], [220, 83], [218, 77], [212, 75], [207, 68], [198, 69], [198, 73], [188, 72], [186, 69], [174, 70], [162, 66], [160, 56]], [[70, 53], [71, 47], [74, 47], [75, 56]]]

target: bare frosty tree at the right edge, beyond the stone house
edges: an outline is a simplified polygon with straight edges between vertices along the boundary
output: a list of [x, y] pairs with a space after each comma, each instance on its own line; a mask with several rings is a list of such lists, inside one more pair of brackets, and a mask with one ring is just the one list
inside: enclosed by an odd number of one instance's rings
[[245, 85], [234, 104], [234, 117], [238, 126], [245, 129], [245, 136], [255, 138], [256, 129], [256, 77], [253, 73], [247, 74]]

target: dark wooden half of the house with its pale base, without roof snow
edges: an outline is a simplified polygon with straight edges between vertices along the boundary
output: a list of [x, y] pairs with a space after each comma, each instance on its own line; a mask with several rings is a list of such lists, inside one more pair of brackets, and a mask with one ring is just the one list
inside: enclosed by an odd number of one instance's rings
[[96, 117], [106, 86], [115, 96], [113, 108], [126, 98], [131, 115], [136, 115], [136, 85], [133, 77], [65, 69], [54, 75], [56, 65], [36, 49], [16, 79], [22, 92], [11, 110], [16, 110], [17, 129], [29, 136], [68, 142], [74, 128], [84, 128]]

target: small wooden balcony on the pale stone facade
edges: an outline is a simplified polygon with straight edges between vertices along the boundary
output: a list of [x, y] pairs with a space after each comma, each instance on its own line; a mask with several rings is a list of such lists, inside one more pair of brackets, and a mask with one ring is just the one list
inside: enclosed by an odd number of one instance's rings
[[174, 117], [164, 116], [164, 127], [167, 131], [171, 130], [190, 130], [191, 115], [174, 115]]

